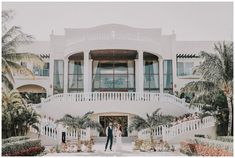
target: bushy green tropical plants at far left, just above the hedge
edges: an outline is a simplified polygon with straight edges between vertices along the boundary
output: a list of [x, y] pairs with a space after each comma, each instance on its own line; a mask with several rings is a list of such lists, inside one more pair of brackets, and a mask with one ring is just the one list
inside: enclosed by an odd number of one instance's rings
[[26, 135], [29, 127], [39, 130], [40, 115], [32, 107], [25, 105], [25, 101], [17, 90], [3, 92], [2, 96], [2, 136]]

